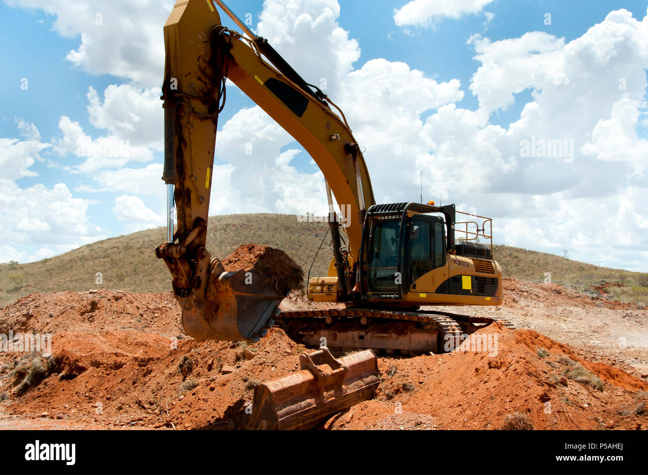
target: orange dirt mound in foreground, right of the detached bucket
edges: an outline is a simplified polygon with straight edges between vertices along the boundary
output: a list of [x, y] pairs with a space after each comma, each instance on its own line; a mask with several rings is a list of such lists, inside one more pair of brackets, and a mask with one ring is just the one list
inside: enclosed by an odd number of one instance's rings
[[[648, 429], [648, 384], [582, 360], [533, 330], [490, 325], [496, 354], [461, 351], [380, 358], [376, 400], [332, 418], [330, 429]], [[425, 421], [431, 421], [426, 423]]]

